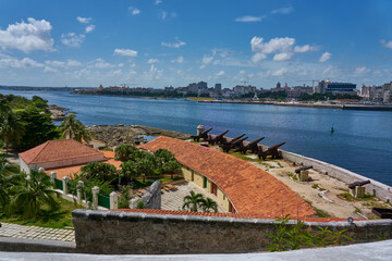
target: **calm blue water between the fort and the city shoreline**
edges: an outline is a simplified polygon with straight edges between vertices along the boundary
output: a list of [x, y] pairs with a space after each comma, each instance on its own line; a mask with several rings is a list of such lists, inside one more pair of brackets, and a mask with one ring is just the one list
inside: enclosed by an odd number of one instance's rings
[[[77, 113], [85, 125], [137, 124], [196, 133], [203, 123], [211, 133], [230, 129], [264, 145], [285, 141], [284, 150], [333, 163], [392, 185], [392, 112], [342, 111], [255, 104], [216, 104], [121, 97], [76, 96], [63, 91], [9, 91], [40, 96]], [[334, 126], [335, 133], [329, 129]]]

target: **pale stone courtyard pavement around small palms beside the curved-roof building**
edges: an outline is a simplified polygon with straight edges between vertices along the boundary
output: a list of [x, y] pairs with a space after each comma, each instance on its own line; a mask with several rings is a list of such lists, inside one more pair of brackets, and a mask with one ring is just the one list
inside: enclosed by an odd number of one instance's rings
[[[164, 191], [162, 194], [161, 209], [181, 211], [184, 204], [184, 197], [188, 196], [191, 190], [194, 190], [196, 194], [203, 194], [206, 198], [211, 198], [218, 203], [215, 195], [207, 192], [192, 182], [184, 182], [176, 184], [175, 186], [177, 187], [177, 190]], [[223, 207], [218, 203], [218, 212], [224, 213], [226, 211], [224, 211]]]

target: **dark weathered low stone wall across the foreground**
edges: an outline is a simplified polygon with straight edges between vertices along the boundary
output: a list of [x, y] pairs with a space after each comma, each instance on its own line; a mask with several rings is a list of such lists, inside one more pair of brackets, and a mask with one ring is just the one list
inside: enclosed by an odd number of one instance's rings
[[[75, 210], [76, 250], [90, 253], [235, 253], [262, 251], [275, 221]], [[290, 222], [295, 224], [295, 222]], [[355, 243], [391, 238], [391, 220], [307, 222], [310, 229], [347, 229]]]

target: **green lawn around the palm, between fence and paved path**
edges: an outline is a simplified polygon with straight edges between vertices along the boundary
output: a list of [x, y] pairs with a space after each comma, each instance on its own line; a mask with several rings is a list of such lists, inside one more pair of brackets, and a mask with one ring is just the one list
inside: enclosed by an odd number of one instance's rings
[[73, 226], [71, 212], [75, 209], [81, 209], [82, 207], [75, 206], [73, 202], [62, 198], [59, 198], [58, 202], [61, 204], [61, 209], [54, 213], [48, 213], [44, 208], [41, 216], [35, 220], [22, 220], [21, 216], [3, 216], [0, 214], [0, 222], [52, 228]]

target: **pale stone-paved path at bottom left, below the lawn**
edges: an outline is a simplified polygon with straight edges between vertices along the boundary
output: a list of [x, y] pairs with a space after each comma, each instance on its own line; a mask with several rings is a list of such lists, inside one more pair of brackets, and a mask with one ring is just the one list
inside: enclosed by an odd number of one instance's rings
[[0, 237], [75, 241], [75, 232], [73, 228], [60, 229], [1, 222]]

